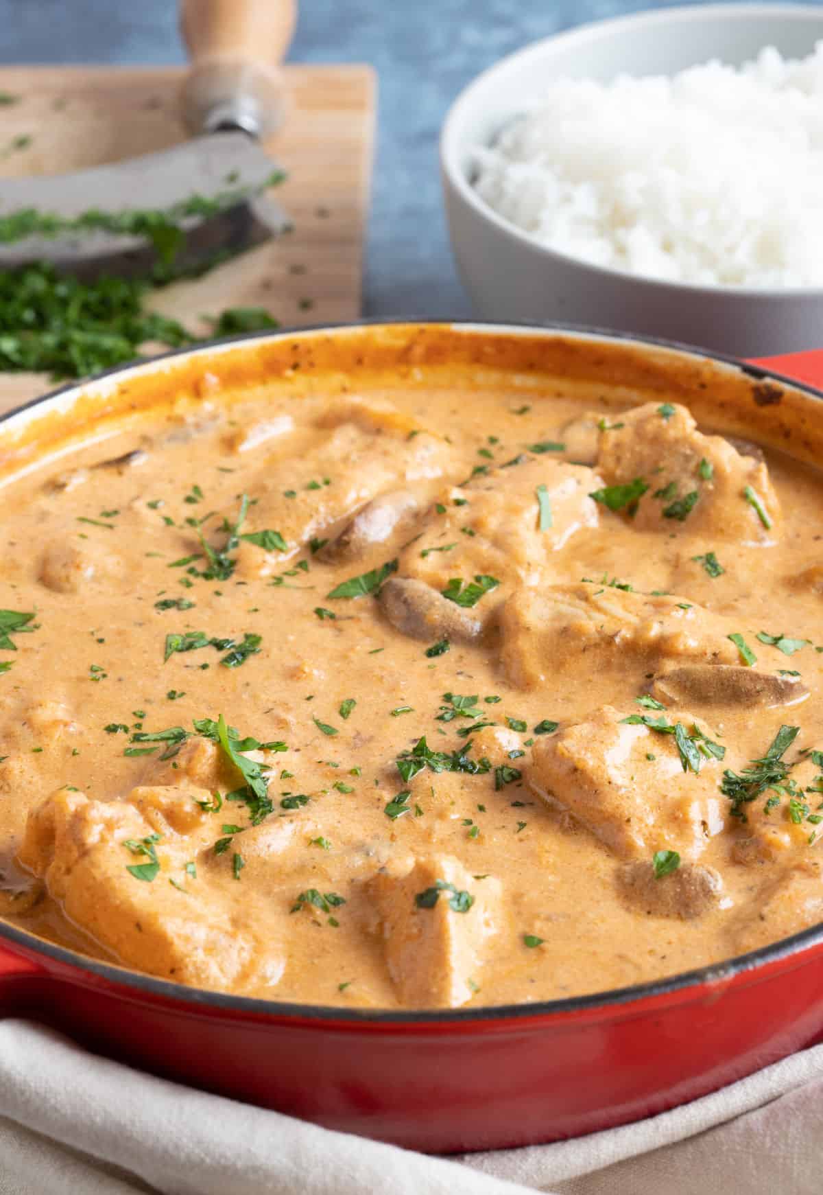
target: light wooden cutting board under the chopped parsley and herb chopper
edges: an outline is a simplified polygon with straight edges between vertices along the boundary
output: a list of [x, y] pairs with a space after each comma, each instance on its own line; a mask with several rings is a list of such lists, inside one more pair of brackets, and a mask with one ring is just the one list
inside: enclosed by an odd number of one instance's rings
[[[63, 173], [176, 145], [185, 137], [177, 115], [182, 76], [183, 68], [167, 67], [4, 67], [0, 176]], [[274, 194], [294, 231], [156, 293], [153, 306], [197, 335], [208, 333], [202, 317], [223, 307], [265, 307], [287, 327], [360, 315], [374, 72], [287, 66], [284, 76], [287, 118], [266, 148], [288, 171]], [[16, 148], [16, 139], [30, 141]], [[54, 385], [42, 374], [0, 374], [0, 411]]]

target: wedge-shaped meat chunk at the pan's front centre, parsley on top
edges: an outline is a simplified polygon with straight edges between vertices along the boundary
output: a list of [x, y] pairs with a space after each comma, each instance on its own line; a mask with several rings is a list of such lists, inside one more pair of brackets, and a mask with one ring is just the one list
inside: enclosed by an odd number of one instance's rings
[[499, 881], [475, 880], [440, 854], [417, 858], [401, 874], [379, 871], [368, 889], [400, 1000], [418, 1009], [471, 1000], [487, 939], [499, 929]]

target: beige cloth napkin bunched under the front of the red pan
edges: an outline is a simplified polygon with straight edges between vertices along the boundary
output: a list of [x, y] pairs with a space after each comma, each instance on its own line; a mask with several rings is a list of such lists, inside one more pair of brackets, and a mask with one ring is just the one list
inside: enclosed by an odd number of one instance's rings
[[429, 1158], [0, 1023], [0, 1195], [819, 1195], [823, 1046], [575, 1141]]

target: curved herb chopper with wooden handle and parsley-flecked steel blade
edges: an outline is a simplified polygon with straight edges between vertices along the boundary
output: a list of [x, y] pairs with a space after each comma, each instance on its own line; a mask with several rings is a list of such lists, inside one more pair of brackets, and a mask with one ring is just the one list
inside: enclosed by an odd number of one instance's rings
[[191, 140], [70, 174], [0, 182], [0, 268], [49, 261], [81, 277], [216, 264], [289, 227], [263, 192], [284, 176], [259, 139], [283, 118], [277, 65], [295, 0], [182, 0]]

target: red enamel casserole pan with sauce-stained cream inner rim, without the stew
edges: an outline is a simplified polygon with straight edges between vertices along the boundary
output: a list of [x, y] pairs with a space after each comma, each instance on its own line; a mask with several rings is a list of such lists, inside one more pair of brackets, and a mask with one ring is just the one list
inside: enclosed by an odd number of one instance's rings
[[[6, 416], [16, 467], [78, 419], [207, 374], [247, 384], [300, 361], [508, 370], [676, 393], [717, 430], [823, 453], [823, 353], [742, 363], [570, 329], [397, 324], [252, 335], [65, 387]], [[337, 363], [336, 363], [337, 362]], [[781, 368], [806, 385], [775, 372]], [[521, 379], [520, 382], [516, 378]], [[823, 413], [823, 409], [821, 409]], [[0, 448], [4, 445], [0, 443]], [[2, 458], [0, 458], [1, 460]], [[575, 1136], [694, 1099], [823, 1040], [823, 925], [717, 967], [518, 1006], [375, 1012], [252, 1000], [127, 972], [0, 923], [0, 1011], [93, 1050], [330, 1128], [449, 1153]]]

